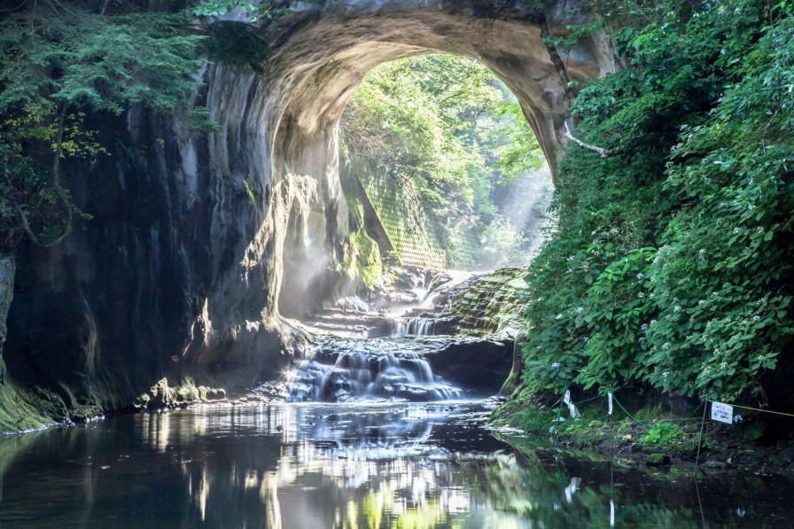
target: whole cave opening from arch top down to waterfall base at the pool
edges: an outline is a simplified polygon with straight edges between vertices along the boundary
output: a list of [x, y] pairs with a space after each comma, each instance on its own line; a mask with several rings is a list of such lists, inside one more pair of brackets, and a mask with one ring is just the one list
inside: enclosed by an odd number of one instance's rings
[[290, 399], [496, 393], [525, 267], [553, 226], [549, 166], [517, 98], [473, 58], [400, 58], [362, 79], [336, 132], [345, 243], [314, 310], [296, 305], [305, 267], [285, 267], [282, 314], [325, 337], [287, 373]]

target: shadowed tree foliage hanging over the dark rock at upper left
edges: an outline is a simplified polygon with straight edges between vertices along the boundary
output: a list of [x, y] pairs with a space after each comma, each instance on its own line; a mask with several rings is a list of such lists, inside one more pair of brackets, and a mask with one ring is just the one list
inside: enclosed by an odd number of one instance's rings
[[58, 242], [72, 214], [82, 214], [59, 183], [59, 161], [105, 153], [84, 127], [85, 111], [147, 105], [207, 127], [206, 109], [190, 105], [202, 38], [181, 14], [48, 7], [0, 21], [0, 227], [11, 234], [4, 245], [22, 228], [37, 243]]

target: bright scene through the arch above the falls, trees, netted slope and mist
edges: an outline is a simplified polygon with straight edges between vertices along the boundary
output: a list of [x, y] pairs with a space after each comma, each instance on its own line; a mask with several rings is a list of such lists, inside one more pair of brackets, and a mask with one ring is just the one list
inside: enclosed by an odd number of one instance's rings
[[377, 66], [339, 135], [343, 182], [362, 196], [357, 237], [384, 257], [481, 271], [524, 266], [541, 244], [549, 167], [518, 100], [479, 61], [421, 55]]

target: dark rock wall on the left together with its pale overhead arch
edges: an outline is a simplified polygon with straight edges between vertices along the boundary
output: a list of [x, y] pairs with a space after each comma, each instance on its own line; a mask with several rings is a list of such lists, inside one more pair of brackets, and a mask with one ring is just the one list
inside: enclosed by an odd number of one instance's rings
[[[552, 35], [587, 21], [564, 14], [571, 7], [547, 3]], [[357, 286], [332, 271], [354, 229], [338, 123], [370, 68], [429, 52], [479, 58], [516, 94], [556, 165], [568, 98], [541, 29], [521, 9], [320, 2], [261, 29], [276, 51], [261, 74], [218, 65], [201, 73], [197, 103], [216, 133], [191, 135], [140, 110], [93, 116], [111, 156], [65, 170], [95, 218], [54, 249], [20, 249], [9, 369], [109, 407], [166, 375], [227, 385], [273, 376], [298, 346], [280, 314]], [[603, 36], [566, 59], [572, 80], [614, 69]]]

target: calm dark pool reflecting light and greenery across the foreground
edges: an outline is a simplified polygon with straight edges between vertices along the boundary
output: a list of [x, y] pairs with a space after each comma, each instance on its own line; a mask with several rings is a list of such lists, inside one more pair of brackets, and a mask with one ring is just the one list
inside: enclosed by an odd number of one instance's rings
[[[479, 402], [117, 416], [0, 439], [0, 526], [790, 527], [794, 480], [514, 452]], [[673, 471], [676, 472], [676, 471]]]

